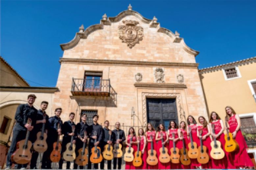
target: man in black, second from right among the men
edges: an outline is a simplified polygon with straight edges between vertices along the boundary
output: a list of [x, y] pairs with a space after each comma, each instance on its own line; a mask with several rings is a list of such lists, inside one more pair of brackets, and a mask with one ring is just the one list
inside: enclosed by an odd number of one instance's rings
[[[103, 147], [107, 144], [111, 144], [114, 142], [113, 140], [113, 134], [111, 133], [111, 135], [109, 134], [111, 130], [109, 129], [109, 121], [106, 120], [104, 122], [104, 128], [103, 128], [103, 142], [102, 142], [102, 149], [101, 152], [103, 153]], [[103, 154], [102, 154], [103, 156]], [[104, 169], [104, 161], [105, 159], [103, 158], [102, 161], [100, 162], [100, 169]], [[111, 160], [108, 160], [108, 169], [111, 169]]]

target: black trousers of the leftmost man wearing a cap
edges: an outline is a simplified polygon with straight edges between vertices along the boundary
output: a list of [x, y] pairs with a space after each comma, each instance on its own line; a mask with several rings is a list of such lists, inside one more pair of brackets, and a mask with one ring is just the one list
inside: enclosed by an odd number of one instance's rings
[[[9, 151], [8, 151], [8, 154], [7, 154], [7, 159], [6, 159], [6, 166], [12, 166], [13, 162], [11, 161], [11, 157], [13, 155], [13, 152], [16, 150], [16, 144], [18, 141], [20, 140], [23, 140], [26, 138], [26, 134], [27, 134], [27, 131], [25, 130], [21, 130], [17, 124], [14, 126], [13, 128], [13, 139], [12, 139], [12, 143], [11, 143], [11, 146], [9, 148]], [[19, 148], [22, 147], [22, 146], [19, 146]], [[27, 167], [27, 164], [17, 164], [15, 166], [15, 168], [25, 168]]]

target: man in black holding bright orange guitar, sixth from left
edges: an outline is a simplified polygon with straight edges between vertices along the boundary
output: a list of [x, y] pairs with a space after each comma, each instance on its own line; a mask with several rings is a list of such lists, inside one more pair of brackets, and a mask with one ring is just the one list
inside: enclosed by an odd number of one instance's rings
[[[91, 156], [91, 149], [94, 146], [101, 147], [101, 140], [102, 140], [102, 126], [98, 124], [98, 118], [99, 116], [97, 114], [92, 116], [92, 121], [93, 124], [90, 126], [90, 141], [89, 141], [89, 161], [88, 161], [88, 169], [91, 169], [91, 161], [90, 161], [90, 156]], [[96, 140], [96, 142], [95, 142]], [[101, 147], [102, 148], [102, 147]], [[98, 164], [94, 164], [94, 169], [98, 169]]]

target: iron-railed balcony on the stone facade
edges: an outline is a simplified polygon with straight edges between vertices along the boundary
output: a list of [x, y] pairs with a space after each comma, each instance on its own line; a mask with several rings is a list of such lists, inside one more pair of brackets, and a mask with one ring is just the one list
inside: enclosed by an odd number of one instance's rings
[[110, 79], [74, 79], [71, 93], [73, 96], [110, 96]]

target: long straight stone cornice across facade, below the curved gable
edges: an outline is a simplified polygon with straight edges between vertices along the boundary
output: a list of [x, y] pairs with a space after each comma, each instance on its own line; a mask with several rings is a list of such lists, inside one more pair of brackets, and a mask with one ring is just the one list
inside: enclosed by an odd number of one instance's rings
[[148, 61], [125, 61], [125, 60], [94, 60], [94, 59], [70, 59], [60, 58], [60, 63], [87, 63], [100, 65], [135, 65], [135, 66], [168, 66], [168, 67], [193, 67], [197, 68], [198, 63], [182, 62], [148, 62]]

